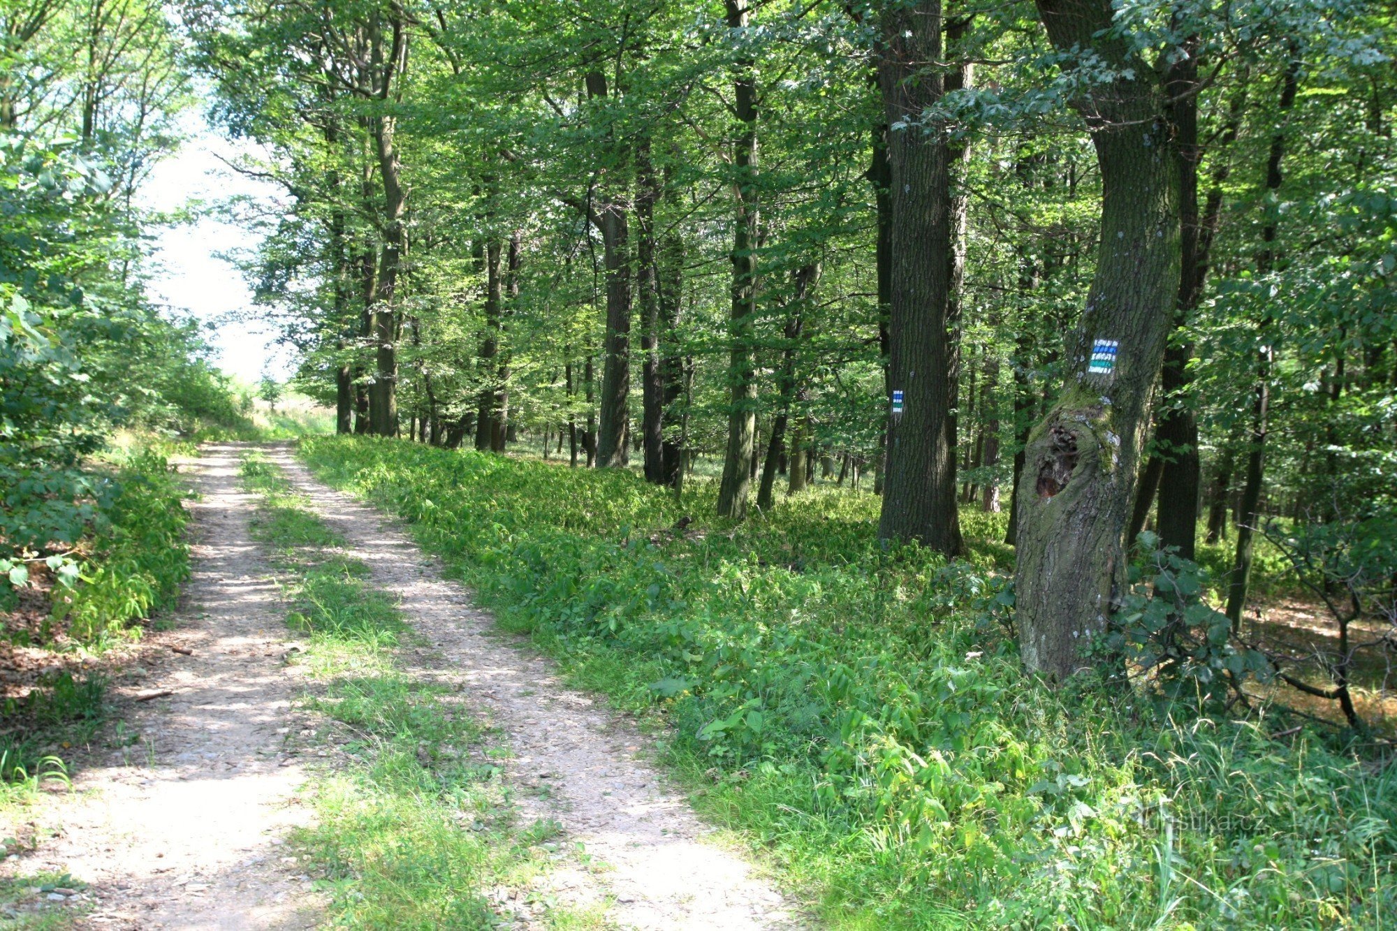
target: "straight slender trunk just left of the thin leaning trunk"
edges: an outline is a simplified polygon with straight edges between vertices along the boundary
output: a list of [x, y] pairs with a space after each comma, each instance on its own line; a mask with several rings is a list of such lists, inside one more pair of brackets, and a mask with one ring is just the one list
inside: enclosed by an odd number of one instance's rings
[[[745, 29], [749, 0], [724, 0], [728, 28]], [[757, 77], [756, 66], [739, 59], [733, 78], [733, 110], [740, 124], [732, 141], [736, 217], [732, 238], [732, 312], [728, 322], [728, 450], [718, 485], [718, 516], [742, 520], [756, 446], [757, 382], [753, 362], [753, 329], [757, 316]]]

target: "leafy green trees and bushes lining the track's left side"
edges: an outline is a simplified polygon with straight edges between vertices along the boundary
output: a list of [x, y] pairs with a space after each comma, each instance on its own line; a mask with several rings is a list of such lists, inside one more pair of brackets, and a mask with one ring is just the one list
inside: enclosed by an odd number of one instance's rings
[[[145, 294], [159, 218], [137, 194], [177, 145], [187, 102], [163, 10], [82, 0], [0, 17], [0, 561], [22, 576], [41, 561], [71, 568], [110, 506], [116, 486], [91, 457], [113, 431], [187, 436], [242, 417], [203, 330]], [[89, 586], [120, 598], [120, 583]]]

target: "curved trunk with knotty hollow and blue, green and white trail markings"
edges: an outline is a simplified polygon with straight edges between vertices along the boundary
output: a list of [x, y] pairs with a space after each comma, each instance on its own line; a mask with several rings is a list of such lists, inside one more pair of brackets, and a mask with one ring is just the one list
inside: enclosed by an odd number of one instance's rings
[[1067, 383], [1028, 438], [1018, 484], [1016, 602], [1030, 670], [1083, 667], [1125, 582], [1123, 535], [1150, 393], [1179, 287], [1178, 171], [1154, 70], [1109, 35], [1112, 8], [1039, 0], [1052, 43], [1116, 70], [1076, 103], [1101, 166], [1101, 247], [1070, 347]]

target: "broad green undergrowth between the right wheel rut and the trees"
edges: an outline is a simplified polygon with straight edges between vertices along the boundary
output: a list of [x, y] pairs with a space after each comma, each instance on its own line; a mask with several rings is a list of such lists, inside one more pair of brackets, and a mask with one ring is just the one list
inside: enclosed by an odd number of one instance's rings
[[[1044, 688], [983, 537], [946, 566], [880, 547], [866, 495], [731, 526], [708, 517], [712, 489], [676, 502], [623, 471], [362, 438], [300, 456], [405, 519], [576, 682], [662, 716], [694, 804], [834, 927], [1397, 916], [1394, 767], [1305, 730], [1273, 739], [1264, 716]], [[967, 527], [983, 530], [1003, 533]]]

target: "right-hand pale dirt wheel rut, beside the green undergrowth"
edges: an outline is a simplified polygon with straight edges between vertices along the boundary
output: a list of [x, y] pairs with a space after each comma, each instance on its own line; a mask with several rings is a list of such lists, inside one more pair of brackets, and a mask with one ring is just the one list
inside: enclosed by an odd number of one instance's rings
[[[591, 696], [563, 686], [552, 664], [492, 633], [490, 616], [443, 577], [395, 526], [319, 481], [285, 447], [277, 463], [310, 506], [348, 541], [376, 587], [401, 600], [404, 618], [448, 661], [448, 674], [513, 758], [506, 762], [525, 818], [552, 818], [592, 861], [612, 921], [633, 928], [789, 928], [806, 924], [708, 830], [683, 795], [638, 756], [645, 738]], [[422, 670], [439, 678], [441, 670]], [[553, 878], [555, 888], [567, 878]]]

